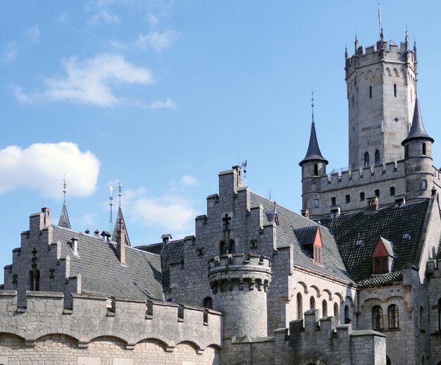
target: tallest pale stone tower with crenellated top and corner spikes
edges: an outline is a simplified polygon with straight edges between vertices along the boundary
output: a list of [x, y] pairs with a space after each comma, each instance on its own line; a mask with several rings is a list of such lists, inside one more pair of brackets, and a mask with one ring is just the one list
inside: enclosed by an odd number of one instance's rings
[[409, 49], [409, 35], [398, 47], [380, 40], [359, 46], [346, 58], [349, 109], [349, 167], [375, 166], [404, 159], [401, 142], [410, 130], [415, 104], [416, 46]]

